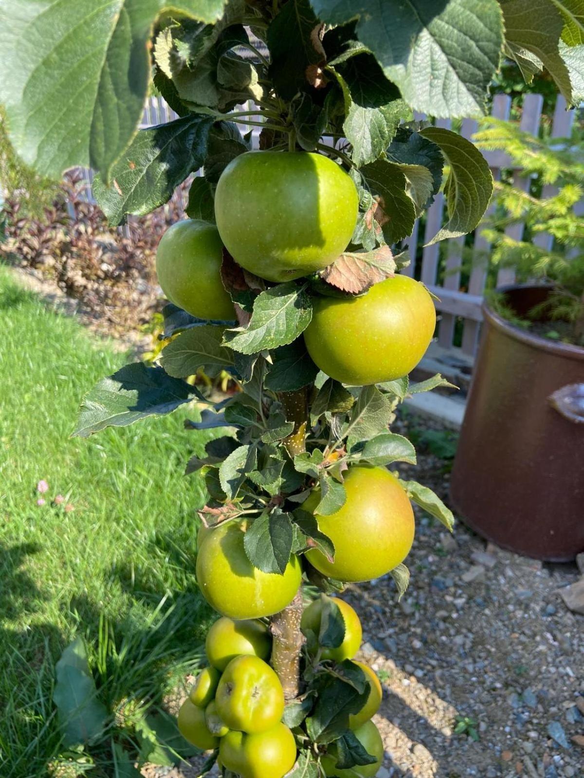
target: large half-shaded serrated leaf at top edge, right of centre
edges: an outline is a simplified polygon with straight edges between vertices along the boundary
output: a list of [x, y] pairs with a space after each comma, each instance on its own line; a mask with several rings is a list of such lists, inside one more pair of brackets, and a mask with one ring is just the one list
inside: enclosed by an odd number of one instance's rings
[[312, 0], [312, 7], [329, 24], [358, 17], [357, 37], [414, 110], [436, 117], [484, 111], [503, 42], [495, 0], [409, 0], [399, 12], [375, 0]]

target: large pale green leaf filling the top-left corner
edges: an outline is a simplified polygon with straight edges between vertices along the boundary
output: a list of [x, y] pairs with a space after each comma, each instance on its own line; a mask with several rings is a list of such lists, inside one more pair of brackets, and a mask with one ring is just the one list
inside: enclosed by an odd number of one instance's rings
[[[150, 33], [165, 0], [0, 0], [0, 101], [13, 145], [39, 173], [90, 166], [109, 180], [142, 117]], [[213, 23], [224, 0], [173, 0]], [[9, 74], [9, 76], [8, 76]]]

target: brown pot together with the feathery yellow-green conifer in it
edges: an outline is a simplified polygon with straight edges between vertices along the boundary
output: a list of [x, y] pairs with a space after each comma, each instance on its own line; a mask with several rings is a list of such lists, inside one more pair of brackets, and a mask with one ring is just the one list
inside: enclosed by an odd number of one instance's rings
[[[584, 550], [582, 142], [486, 124], [477, 144], [507, 152], [533, 180], [530, 191], [495, 185], [498, 208], [485, 230], [491, 261], [513, 268], [519, 283], [484, 306], [452, 500], [487, 538], [563, 561]], [[517, 223], [525, 224], [521, 240], [507, 229]]]

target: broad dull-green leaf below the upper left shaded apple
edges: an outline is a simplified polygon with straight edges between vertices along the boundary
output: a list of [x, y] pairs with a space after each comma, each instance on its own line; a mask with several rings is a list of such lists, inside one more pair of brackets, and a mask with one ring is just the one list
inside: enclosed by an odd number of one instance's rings
[[169, 376], [187, 378], [202, 369], [214, 378], [233, 366], [233, 354], [221, 345], [223, 328], [213, 324], [182, 332], [163, 350], [160, 362]]

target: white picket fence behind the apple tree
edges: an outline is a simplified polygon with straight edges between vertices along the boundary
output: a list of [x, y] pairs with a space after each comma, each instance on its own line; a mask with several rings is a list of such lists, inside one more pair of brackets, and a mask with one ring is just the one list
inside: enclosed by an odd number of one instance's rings
[[[525, 96], [520, 123], [522, 130], [537, 135], [543, 103], [544, 98], [540, 95], [527, 94]], [[507, 95], [494, 96], [491, 111], [494, 117], [508, 119], [510, 110], [510, 97]], [[551, 128], [552, 137], [565, 138], [570, 135], [574, 114], [574, 110], [566, 110], [564, 98], [558, 96]], [[151, 127], [155, 124], [171, 121], [174, 118], [176, 118], [176, 114], [162, 98], [151, 97], [146, 103], [140, 126], [142, 128]], [[422, 117], [418, 116], [417, 118]], [[445, 119], [438, 119], [436, 124], [439, 127], [450, 128], [451, 122]], [[241, 127], [241, 130], [245, 132], [248, 131], [248, 128]], [[473, 133], [476, 131], [476, 120], [463, 120], [461, 133], [465, 138], [472, 138]], [[252, 145], [254, 147], [257, 147], [258, 136], [259, 128], [255, 128], [252, 133]], [[484, 156], [491, 167], [495, 180], [501, 178], [501, 170], [512, 170], [515, 186], [521, 187], [524, 191], [529, 190], [529, 177], [522, 176], [522, 171], [515, 167], [512, 160], [504, 152], [485, 152]], [[91, 198], [91, 172], [89, 170], [83, 171], [83, 177], [86, 182], [87, 196]], [[553, 194], [554, 187], [544, 187], [545, 197], [550, 197]], [[178, 189], [173, 195], [173, 201], [178, 205], [179, 209], [184, 211], [186, 205], [185, 191]], [[584, 212], [584, 202], [582, 203], [582, 211]], [[415, 275], [416, 278], [421, 279], [428, 289], [438, 297], [438, 300], [435, 302], [439, 322], [438, 345], [443, 349], [453, 349], [455, 329], [458, 322], [458, 340], [460, 338], [460, 328], [462, 328], [462, 342], [459, 342], [461, 351], [463, 355], [472, 358], [477, 351], [480, 322], [482, 321], [481, 303], [488, 269], [484, 258], [488, 254], [489, 244], [480, 234], [481, 226], [479, 226], [470, 238], [452, 238], [442, 241], [440, 244], [426, 245], [445, 223], [445, 220], [445, 201], [442, 193], [439, 193], [427, 211], [424, 230], [421, 229], [420, 220], [417, 220], [413, 227], [413, 233], [407, 240], [412, 262], [403, 272], [406, 275]], [[121, 229], [127, 230], [127, 228]], [[508, 234], [519, 240], [522, 237], [523, 229], [524, 226], [521, 223], [513, 224], [508, 227]], [[543, 234], [538, 236], [536, 240], [538, 244], [551, 248], [551, 236]], [[472, 247], [473, 266], [470, 275], [463, 275], [461, 272], [465, 241], [467, 245], [470, 244]], [[463, 287], [462, 279], [466, 278], [466, 276], [468, 276], [468, 282]], [[498, 286], [512, 281], [513, 274], [509, 270], [501, 269], [498, 272]], [[456, 350], [458, 351], [458, 349]]]

